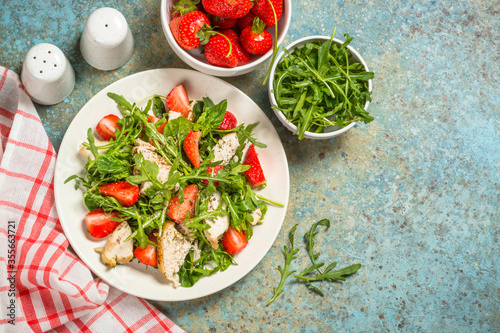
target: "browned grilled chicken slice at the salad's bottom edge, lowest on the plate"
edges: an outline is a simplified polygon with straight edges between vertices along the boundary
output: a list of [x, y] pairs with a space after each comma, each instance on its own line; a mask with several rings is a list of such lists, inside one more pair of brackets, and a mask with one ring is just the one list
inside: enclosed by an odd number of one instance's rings
[[191, 248], [192, 240], [177, 231], [174, 222], [165, 222], [162, 234], [158, 237], [156, 257], [158, 269], [168, 281], [172, 282], [174, 288], [180, 286], [177, 273]]

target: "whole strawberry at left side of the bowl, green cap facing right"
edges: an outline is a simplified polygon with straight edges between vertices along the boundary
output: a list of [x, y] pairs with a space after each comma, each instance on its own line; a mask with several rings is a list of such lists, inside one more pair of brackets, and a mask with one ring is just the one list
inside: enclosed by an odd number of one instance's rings
[[203, 31], [207, 29], [204, 26], [210, 27], [210, 21], [198, 10], [176, 17], [168, 25], [177, 43], [185, 50], [196, 49], [208, 40]]

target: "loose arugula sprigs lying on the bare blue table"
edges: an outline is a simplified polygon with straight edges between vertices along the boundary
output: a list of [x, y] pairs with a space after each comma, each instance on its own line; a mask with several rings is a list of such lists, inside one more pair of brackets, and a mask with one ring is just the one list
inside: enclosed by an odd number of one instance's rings
[[[271, 304], [283, 292], [283, 286], [286, 278], [295, 272], [295, 270], [290, 269], [290, 266], [292, 261], [297, 258], [296, 254], [299, 251], [299, 249], [294, 248], [294, 233], [295, 230], [297, 229], [297, 225], [298, 224], [294, 225], [290, 231], [289, 235], [290, 248], [287, 247], [286, 245], [283, 246], [283, 253], [285, 254], [285, 264], [283, 267], [278, 266], [278, 271], [281, 274], [281, 279], [278, 284], [278, 287], [274, 288], [274, 295], [267, 302], [267, 305]], [[308, 288], [310, 288], [317, 294], [324, 296], [324, 293], [321, 291], [321, 289], [314, 286], [312, 282], [324, 281], [324, 280], [345, 281], [347, 276], [356, 273], [361, 268], [361, 264], [350, 265], [348, 267], [334, 271], [333, 269], [337, 266], [337, 263], [332, 262], [324, 270], [321, 270], [320, 268], [322, 268], [325, 265], [325, 263], [317, 263], [316, 260], [318, 259], [320, 253], [314, 252], [314, 245], [315, 245], [314, 237], [318, 234], [318, 231], [316, 231], [316, 229], [320, 225], [326, 227], [326, 229], [328, 230], [330, 228], [330, 220], [323, 219], [314, 223], [311, 226], [309, 232], [307, 232], [304, 235], [306, 241], [306, 251], [309, 255], [309, 259], [311, 260], [312, 264], [311, 266], [302, 270], [299, 274], [294, 275], [294, 278], [305, 282]], [[316, 274], [313, 274], [314, 272], [316, 272]]]

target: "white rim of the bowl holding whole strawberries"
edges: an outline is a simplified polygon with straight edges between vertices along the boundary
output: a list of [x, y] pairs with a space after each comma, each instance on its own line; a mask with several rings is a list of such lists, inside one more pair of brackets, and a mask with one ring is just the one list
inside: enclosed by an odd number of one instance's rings
[[[283, 2], [289, 2], [290, 5], [291, 5], [291, 0], [283, 0]], [[285, 39], [286, 34], [287, 34], [288, 27], [290, 26], [290, 20], [292, 18], [291, 6], [290, 6], [289, 10], [290, 10], [290, 14], [288, 16], [282, 16], [281, 17], [281, 19], [285, 20], [284, 26], [287, 27], [287, 28], [281, 34], [281, 36], [278, 38], [278, 41], [277, 41], [278, 49], [280, 48], [281, 43], [283, 43], [283, 40]], [[166, 21], [167, 20], [166, 13], [167, 13], [167, 1], [166, 0], [162, 0], [162, 2], [161, 2], [160, 17], [161, 17], [162, 24], [164, 25], [164, 27], [168, 27], [168, 23], [169, 23], [169, 22]], [[274, 27], [273, 27], [273, 29], [274, 29]], [[175, 38], [172, 35], [172, 32], [170, 31], [170, 29], [164, 28], [163, 30], [164, 30], [164, 32], [166, 34], [168, 34], [170, 40], [175, 40]], [[280, 34], [280, 31], [278, 31], [278, 35], [279, 34]], [[183, 51], [185, 53], [185, 55], [188, 56], [188, 57], [190, 57], [190, 60], [193, 63], [195, 63], [196, 65], [198, 65], [198, 66], [200, 66], [202, 68], [205, 68], [207, 70], [213, 70], [214, 68], [216, 68], [217, 71], [220, 71], [221, 73], [233, 73], [233, 72], [235, 72], [235, 70], [237, 70], [238, 72], [244, 72], [247, 69], [255, 68], [259, 64], [261, 64], [261, 63], [265, 62], [266, 60], [268, 60], [270, 58], [270, 56], [272, 55], [272, 53], [273, 53], [273, 49], [271, 49], [266, 54], [263, 54], [263, 55], [259, 56], [258, 59], [256, 59], [255, 61], [250, 61], [248, 64], [245, 64], [245, 65], [242, 65], [242, 66], [236, 66], [236, 67], [233, 67], [233, 68], [225, 68], [225, 67], [217, 67], [217, 66], [214, 66], [214, 65], [210, 65], [210, 64], [207, 64], [207, 63], [205, 63], [203, 61], [200, 61], [200, 60], [196, 59], [195, 57], [193, 57], [189, 53], [187, 53], [185, 50], [183, 50], [177, 43], [175, 45], [170, 45], [170, 47], [172, 47], [172, 48], [178, 48], [179, 50]], [[276, 60], [277, 59], [278, 59], [278, 56], [276, 56]]]

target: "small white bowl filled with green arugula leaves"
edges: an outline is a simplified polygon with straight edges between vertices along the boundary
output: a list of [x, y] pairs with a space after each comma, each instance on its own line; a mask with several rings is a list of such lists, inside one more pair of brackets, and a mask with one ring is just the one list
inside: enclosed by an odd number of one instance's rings
[[280, 52], [271, 69], [272, 108], [299, 140], [330, 139], [373, 120], [367, 109], [374, 74], [345, 37], [301, 38]]

